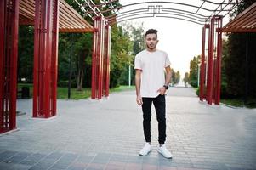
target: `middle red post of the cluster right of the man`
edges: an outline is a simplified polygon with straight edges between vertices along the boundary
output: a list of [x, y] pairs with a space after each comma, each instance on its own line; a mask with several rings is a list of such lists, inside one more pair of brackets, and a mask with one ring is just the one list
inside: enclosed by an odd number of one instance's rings
[[213, 103], [213, 48], [214, 48], [214, 20], [211, 18], [211, 25], [209, 29], [209, 41], [208, 41], [208, 80], [207, 80], [207, 100], [208, 104]]

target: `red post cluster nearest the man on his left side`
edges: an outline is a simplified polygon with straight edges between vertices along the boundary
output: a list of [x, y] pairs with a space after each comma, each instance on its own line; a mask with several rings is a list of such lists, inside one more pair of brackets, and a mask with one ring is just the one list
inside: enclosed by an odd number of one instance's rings
[[101, 99], [109, 96], [111, 26], [102, 16], [94, 17], [94, 48], [92, 59], [92, 96]]

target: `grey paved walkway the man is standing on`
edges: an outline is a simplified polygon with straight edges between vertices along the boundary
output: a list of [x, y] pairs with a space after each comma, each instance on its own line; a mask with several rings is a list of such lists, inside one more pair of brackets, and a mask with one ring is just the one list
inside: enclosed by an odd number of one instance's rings
[[156, 114], [153, 151], [144, 144], [142, 114], [134, 91], [110, 99], [58, 100], [58, 116], [31, 118], [31, 100], [19, 100], [18, 131], [0, 136], [0, 169], [256, 169], [256, 110], [199, 102], [192, 88], [167, 96], [167, 147], [159, 155]]

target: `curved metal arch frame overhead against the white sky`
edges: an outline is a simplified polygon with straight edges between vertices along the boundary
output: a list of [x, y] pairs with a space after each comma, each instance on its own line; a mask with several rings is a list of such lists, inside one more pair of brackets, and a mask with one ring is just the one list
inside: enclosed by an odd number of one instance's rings
[[[185, 2], [185, 3], [183, 3]], [[177, 20], [186, 20], [198, 25], [210, 22], [213, 15], [225, 17], [234, 10], [238, 0], [215, 0], [215, 1], [143, 1], [123, 4], [117, 7], [118, 12], [107, 20], [111, 24], [140, 18], [163, 17]], [[115, 8], [113, 8], [115, 9]], [[104, 13], [105, 11], [102, 11]]]

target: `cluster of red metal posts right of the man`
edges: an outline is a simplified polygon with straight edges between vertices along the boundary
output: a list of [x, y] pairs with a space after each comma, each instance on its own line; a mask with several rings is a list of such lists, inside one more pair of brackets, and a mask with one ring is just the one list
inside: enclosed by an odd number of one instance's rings
[[[215, 28], [216, 26], [216, 28]], [[202, 28], [202, 54], [200, 69], [200, 100], [206, 99], [209, 105], [219, 105], [221, 56], [222, 56], [222, 16], [213, 15], [211, 23]], [[208, 30], [208, 55], [205, 56], [205, 39]], [[214, 42], [217, 41], [215, 46]]]

